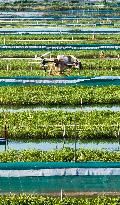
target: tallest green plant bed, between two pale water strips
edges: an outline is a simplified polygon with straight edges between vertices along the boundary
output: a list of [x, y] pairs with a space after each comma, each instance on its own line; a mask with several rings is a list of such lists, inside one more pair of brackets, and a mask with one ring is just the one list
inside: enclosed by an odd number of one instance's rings
[[0, 132], [3, 132], [4, 123], [7, 121], [10, 139], [61, 139], [64, 124], [66, 139], [117, 139], [119, 118], [119, 112], [111, 111], [2, 112]]

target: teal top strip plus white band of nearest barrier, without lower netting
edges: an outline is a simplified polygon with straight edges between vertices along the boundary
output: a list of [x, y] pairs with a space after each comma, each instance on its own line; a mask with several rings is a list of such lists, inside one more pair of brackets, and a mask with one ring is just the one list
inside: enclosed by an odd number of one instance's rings
[[0, 163], [0, 177], [120, 175], [119, 162]]

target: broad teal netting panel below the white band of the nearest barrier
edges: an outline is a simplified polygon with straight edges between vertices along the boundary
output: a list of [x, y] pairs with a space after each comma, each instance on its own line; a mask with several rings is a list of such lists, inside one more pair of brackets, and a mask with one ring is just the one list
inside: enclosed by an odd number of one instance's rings
[[0, 178], [0, 193], [119, 192], [120, 176], [55, 176]]

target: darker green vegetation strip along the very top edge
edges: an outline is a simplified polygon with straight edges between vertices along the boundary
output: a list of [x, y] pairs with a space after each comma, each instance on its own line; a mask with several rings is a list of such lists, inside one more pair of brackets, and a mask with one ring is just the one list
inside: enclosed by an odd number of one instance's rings
[[[91, 7], [93, 10], [101, 9], [99, 4], [101, 5], [101, 2], [84, 2], [83, 1], [14, 1], [14, 2], [1, 2], [0, 4], [0, 10], [3, 11], [57, 11], [57, 10], [71, 10], [71, 9], [81, 9], [81, 10], [87, 10]], [[97, 7], [95, 6], [97, 5]], [[102, 10], [111, 9], [112, 13], [119, 11], [119, 2], [103, 2]], [[99, 10], [98, 10], [99, 11]]]

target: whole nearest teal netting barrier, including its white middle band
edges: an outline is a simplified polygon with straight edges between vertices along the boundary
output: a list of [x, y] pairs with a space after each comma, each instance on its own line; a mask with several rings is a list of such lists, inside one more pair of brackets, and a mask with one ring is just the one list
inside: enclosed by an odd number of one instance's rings
[[120, 192], [120, 162], [0, 163], [0, 193]]

